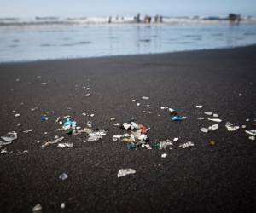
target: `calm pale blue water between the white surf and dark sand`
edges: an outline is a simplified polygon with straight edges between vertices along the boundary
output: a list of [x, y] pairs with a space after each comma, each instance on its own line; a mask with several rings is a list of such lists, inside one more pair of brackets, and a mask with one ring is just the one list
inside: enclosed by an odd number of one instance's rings
[[0, 62], [218, 49], [256, 43], [256, 24], [0, 26]]

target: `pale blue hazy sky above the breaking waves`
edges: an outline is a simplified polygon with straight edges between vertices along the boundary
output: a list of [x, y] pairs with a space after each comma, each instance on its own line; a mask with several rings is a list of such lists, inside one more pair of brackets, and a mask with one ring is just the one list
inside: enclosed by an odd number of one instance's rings
[[0, 0], [1, 17], [256, 15], [256, 0]]

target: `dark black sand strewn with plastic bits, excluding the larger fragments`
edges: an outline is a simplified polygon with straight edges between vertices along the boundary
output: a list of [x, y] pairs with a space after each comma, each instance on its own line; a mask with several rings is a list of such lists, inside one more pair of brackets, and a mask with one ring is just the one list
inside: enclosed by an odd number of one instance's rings
[[[256, 141], [245, 130], [256, 129], [256, 46], [9, 63], [0, 65], [0, 77], [0, 135], [18, 133], [4, 146], [8, 153], [0, 154], [1, 212], [32, 212], [35, 204], [43, 212], [255, 212]], [[171, 121], [162, 106], [187, 119]], [[218, 113], [218, 130], [200, 131], [217, 124], [204, 112]], [[42, 121], [43, 114], [49, 120]], [[85, 135], [55, 131], [61, 126], [55, 119], [66, 115], [108, 134], [84, 143]], [[179, 141], [172, 150], [128, 150], [113, 141], [125, 133], [113, 124], [131, 117], [150, 127], [149, 144]], [[228, 131], [226, 122], [240, 129]], [[55, 135], [73, 147], [40, 148]], [[178, 147], [187, 141], [195, 146]], [[118, 178], [122, 168], [136, 174]], [[63, 172], [65, 181], [59, 179]]]

